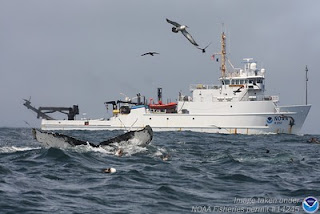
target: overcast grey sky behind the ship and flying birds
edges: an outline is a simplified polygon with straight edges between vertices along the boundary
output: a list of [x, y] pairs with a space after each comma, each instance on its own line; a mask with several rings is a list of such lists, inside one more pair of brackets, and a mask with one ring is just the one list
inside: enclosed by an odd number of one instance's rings
[[[318, 0], [0, 0], [0, 127], [39, 127], [22, 104], [78, 104], [87, 117], [109, 117], [104, 102], [140, 92], [174, 101], [189, 84], [217, 84], [221, 23], [229, 59], [252, 57], [266, 69], [266, 88], [280, 104], [313, 106], [302, 129], [319, 134], [320, 1]], [[165, 19], [189, 26], [206, 54]], [[155, 57], [141, 57], [157, 51]]]

